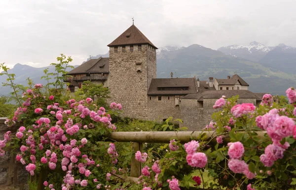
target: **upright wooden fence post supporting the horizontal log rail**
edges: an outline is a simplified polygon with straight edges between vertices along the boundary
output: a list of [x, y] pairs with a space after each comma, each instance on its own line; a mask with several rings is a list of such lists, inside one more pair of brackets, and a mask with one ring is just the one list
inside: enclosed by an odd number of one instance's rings
[[[133, 142], [133, 153], [136, 153], [137, 151], [140, 151], [143, 153], [143, 143]], [[133, 154], [132, 160], [131, 160], [131, 177], [140, 177], [142, 170], [142, 163], [140, 161], [137, 161], [135, 158], [135, 154]]]

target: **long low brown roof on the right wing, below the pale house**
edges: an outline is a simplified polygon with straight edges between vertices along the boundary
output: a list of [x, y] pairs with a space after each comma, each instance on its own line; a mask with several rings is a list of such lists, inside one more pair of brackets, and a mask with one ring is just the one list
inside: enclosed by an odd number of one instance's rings
[[239, 95], [239, 98], [256, 98], [256, 100], [260, 100], [260, 98], [253, 92], [248, 90], [230, 90], [230, 91], [204, 91], [200, 94], [195, 95], [185, 95], [182, 99], [197, 99], [198, 101], [202, 101], [203, 99], [218, 99], [221, 98], [222, 95], [225, 95], [226, 98], [229, 98], [234, 95]]

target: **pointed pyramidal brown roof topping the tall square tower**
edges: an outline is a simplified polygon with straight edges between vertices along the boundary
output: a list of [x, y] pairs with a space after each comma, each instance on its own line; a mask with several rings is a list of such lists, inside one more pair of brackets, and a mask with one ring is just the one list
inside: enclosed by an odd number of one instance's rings
[[121, 35], [119, 35], [114, 41], [112, 41], [108, 46], [118, 46], [118, 45], [131, 45], [131, 44], [149, 44], [156, 48], [152, 42], [135, 26], [132, 25]]

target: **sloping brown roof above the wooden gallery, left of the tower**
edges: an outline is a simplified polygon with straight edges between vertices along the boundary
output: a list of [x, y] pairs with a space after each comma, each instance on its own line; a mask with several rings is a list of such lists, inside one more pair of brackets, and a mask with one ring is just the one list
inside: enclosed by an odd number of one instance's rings
[[102, 58], [89, 60], [77, 66], [67, 74], [80, 73], [109, 73], [109, 58]]

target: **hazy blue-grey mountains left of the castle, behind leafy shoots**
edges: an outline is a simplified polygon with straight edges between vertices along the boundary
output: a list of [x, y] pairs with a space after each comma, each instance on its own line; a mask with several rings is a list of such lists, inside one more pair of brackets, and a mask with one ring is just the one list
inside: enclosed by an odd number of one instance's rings
[[[78, 65], [74, 65], [74, 67], [77, 67]], [[30, 79], [33, 81], [34, 84], [46, 84], [47, 81], [44, 79], [40, 79], [41, 76], [44, 76], [43, 70], [48, 68], [48, 72], [55, 72], [55, 67], [54, 66], [46, 66], [46, 67], [40, 67], [36, 68], [33, 66], [29, 66], [26, 64], [20, 64], [17, 63], [14, 65], [13, 68], [8, 70], [9, 74], [14, 73], [15, 74], [15, 84], [22, 84], [24, 86], [27, 86], [27, 81], [26, 79], [30, 77]], [[68, 70], [72, 70], [71, 68], [68, 68]], [[3, 73], [3, 71], [1, 72]], [[0, 76], [0, 84], [6, 82], [6, 75]], [[53, 78], [53, 77], [52, 77]], [[53, 79], [50, 80], [50, 82], [53, 82]], [[9, 95], [9, 93], [12, 92], [12, 90], [9, 87], [0, 87], [0, 95]]]

